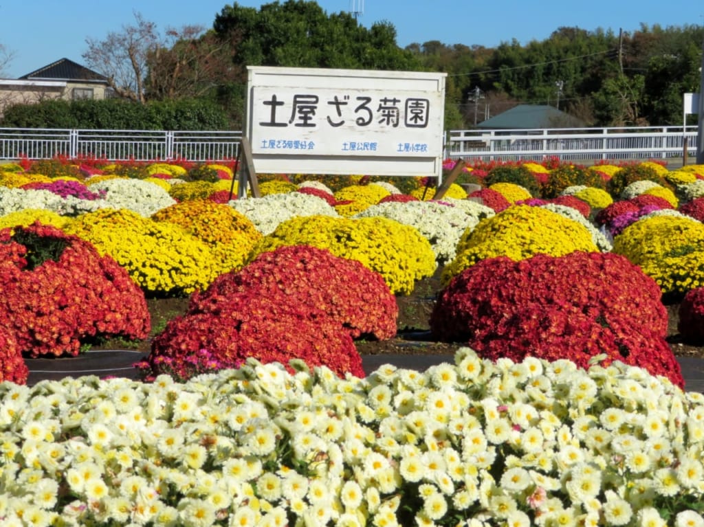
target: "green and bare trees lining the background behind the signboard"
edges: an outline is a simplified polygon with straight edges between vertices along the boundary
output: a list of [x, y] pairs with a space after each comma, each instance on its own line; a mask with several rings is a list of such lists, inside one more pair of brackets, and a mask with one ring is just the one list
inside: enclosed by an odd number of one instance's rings
[[[82, 58], [107, 77], [122, 103], [141, 108], [114, 115], [129, 114], [131, 122], [151, 127], [163, 122], [155, 113], [189, 108], [187, 122], [207, 116], [201, 129], [218, 122], [241, 129], [247, 65], [446, 72], [446, 129], [472, 128], [519, 103], [555, 106], [587, 126], [665, 126], [682, 124], [683, 94], [699, 91], [703, 40], [696, 25], [641, 25], [618, 33], [559, 27], [528, 44], [430, 41], [401, 48], [388, 21], [367, 28], [351, 13], [286, 0], [260, 8], [225, 5], [207, 30], [184, 25], [160, 32], [134, 13], [133, 25], [87, 39]], [[68, 110], [44, 111], [44, 120], [87, 115], [86, 103], [65, 105]], [[22, 106], [7, 108], [0, 125], [26, 126], [31, 112]], [[213, 108], [222, 119], [213, 119]], [[139, 111], [144, 118], [136, 117]], [[52, 124], [58, 123], [44, 126]]]

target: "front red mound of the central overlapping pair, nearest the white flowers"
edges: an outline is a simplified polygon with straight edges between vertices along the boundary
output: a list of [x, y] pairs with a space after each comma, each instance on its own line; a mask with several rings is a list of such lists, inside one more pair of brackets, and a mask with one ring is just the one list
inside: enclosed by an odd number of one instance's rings
[[[348, 331], [325, 312], [284, 299], [252, 289], [220, 298], [209, 312], [189, 309], [152, 341], [141, 364], [146, 380], [163, 373], [189, 379], [199, 372], [239, 367], [247, 357], [280, 362], [289, 372], [289, 361], [301, 359], [308, 367], [325, 365], [341, 377], [365, 375]], [[203, 351], [210, 354], [208, 364], [199, 362]]]

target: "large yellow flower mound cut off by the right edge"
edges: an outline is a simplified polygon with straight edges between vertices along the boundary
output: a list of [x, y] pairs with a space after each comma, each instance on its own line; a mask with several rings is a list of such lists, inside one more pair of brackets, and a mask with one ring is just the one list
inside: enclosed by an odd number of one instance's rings
[[639, 265], [662, 293], [704, 286], [704, 224], [690, 217], [643, 217], [616, 236], [613, 252]]

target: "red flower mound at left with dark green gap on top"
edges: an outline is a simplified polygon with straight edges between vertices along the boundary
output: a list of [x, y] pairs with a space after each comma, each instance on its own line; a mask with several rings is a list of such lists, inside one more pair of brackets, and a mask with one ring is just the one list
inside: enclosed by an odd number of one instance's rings
[[55, 227], [0, 231], [0, 317], [31, 357], [77, 355], [82, 341], [146, 338], [142, 290], [110, 256]]

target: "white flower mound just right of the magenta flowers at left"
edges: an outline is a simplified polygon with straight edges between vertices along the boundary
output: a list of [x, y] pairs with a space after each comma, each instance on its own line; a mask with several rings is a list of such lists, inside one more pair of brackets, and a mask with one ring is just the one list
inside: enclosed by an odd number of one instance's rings
[[132, 210], [144, 217], [176, 203], [161, 186], [142, 179], [106, 179], [91, 183], [88, 188], [93, 192], [105, 191], [108, 207]]

